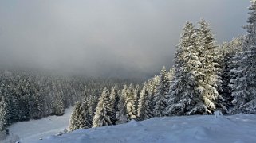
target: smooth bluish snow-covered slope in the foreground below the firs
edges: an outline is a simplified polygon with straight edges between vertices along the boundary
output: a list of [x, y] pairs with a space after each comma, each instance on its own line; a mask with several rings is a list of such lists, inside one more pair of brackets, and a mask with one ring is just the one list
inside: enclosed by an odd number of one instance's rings
[[189, 116], [152, 118], [118, 126], [78, 129], [62, 136], [50, 136], [37, 143], [254, 143], [256, 115]]

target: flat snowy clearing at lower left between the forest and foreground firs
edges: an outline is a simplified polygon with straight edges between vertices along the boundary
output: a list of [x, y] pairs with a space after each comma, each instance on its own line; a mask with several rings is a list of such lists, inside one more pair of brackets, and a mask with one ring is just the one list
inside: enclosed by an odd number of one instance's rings
[[[33, 143], [40, 138], [45, 138], [53, 134], [63, 131], [69, 126], [69, 118], [73, 107], [65, 110], [63, 116], [49, 116], [40, 120], [30, 120], [28, 122], [17, 122], [11, 125], [8, 129], [10, 134], [18, 135], [20, 142]], [[8, 137], [7, 137], [8, 140]], [[0, 141], [8, 142], [9, 141]]]

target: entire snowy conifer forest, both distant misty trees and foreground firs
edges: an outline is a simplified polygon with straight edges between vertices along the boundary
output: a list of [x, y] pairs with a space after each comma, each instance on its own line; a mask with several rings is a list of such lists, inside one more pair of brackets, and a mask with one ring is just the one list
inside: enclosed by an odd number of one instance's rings
[[163, 67], [144, 84], [3, 71], [0, 129], [12, 122], [62, 115], [73, 105], [68, 131], [216, 110], [256, 114], [255, 1], [249, 10], [246, 35], [223, 44], [217, 44], [204, 19], [197, 25], [187, 21], [173, 67]]

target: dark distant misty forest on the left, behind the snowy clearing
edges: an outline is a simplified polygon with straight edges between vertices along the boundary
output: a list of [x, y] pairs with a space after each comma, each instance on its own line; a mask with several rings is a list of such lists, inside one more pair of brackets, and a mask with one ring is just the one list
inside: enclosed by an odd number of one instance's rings
[[0, 71], [0, 131], [13, 122], [63, 115], [65, 108], [85, 96], [97, 102], [104, 87], [118, 88], [132, 82], [45, 72]]

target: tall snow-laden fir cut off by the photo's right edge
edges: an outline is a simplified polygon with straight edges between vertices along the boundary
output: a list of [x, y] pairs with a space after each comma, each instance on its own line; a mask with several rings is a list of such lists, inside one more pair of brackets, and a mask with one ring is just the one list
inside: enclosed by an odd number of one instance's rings
[[231, 113], [256, 114], [256, 1], [251, 1], [250, 17], [242, 52], [237, 54], [236, 62], [239, 65], [232, 69], [235, 79], [231, 79], [232, 101], [234, 108]]

